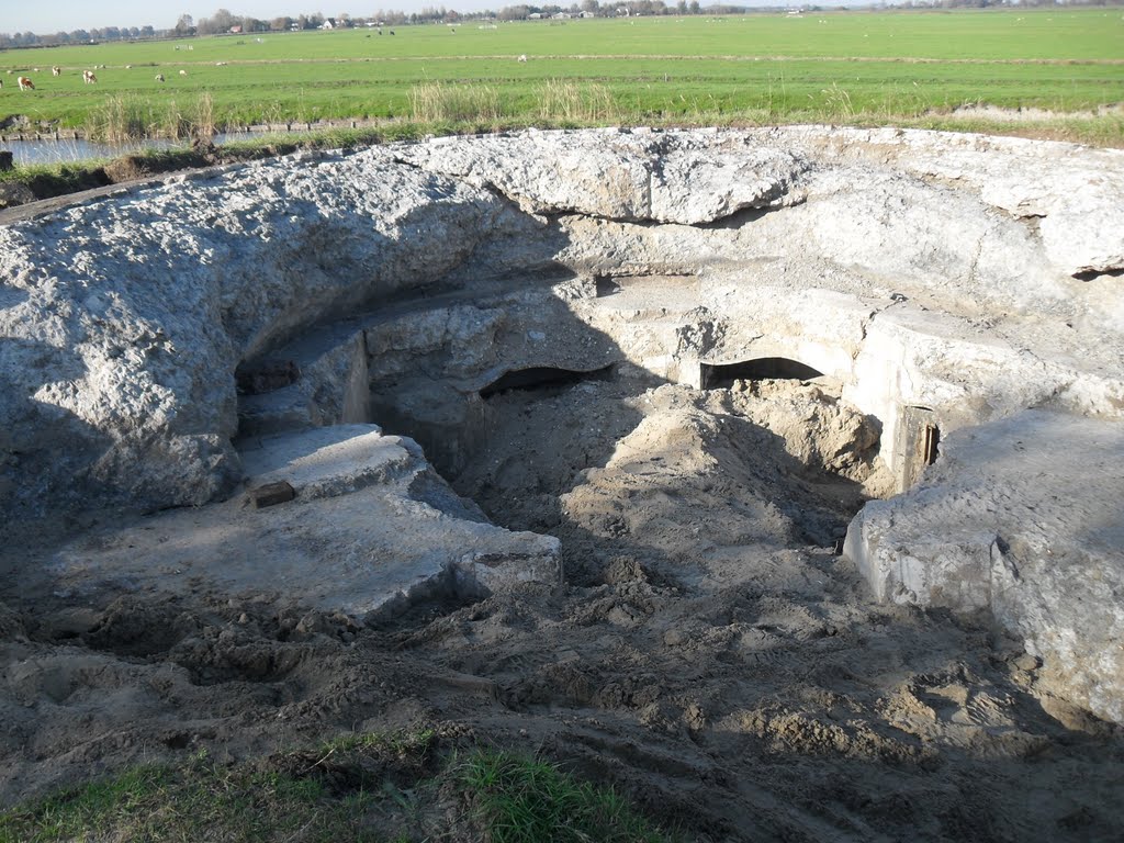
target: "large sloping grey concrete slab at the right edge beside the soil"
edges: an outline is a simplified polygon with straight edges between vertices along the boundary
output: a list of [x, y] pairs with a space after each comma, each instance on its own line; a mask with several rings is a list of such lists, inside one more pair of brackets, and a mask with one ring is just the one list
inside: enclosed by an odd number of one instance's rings
[[985, 613], [1054, 692], [1124, 723], [1122, 489], [1124, 423], [1026, 410], [949, 436], [844, 553], [878, 599]]

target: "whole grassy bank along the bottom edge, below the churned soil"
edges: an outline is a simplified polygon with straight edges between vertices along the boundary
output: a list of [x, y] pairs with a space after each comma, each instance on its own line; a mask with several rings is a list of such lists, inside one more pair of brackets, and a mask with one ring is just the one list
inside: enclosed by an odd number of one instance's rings
[[670, 840], [611, 788], [531, 756], [442, 751], [432, 732], [350, 734], [310, 751], [220, 763], [197, 753], [0, 813], [0, 843], [70, 840]]

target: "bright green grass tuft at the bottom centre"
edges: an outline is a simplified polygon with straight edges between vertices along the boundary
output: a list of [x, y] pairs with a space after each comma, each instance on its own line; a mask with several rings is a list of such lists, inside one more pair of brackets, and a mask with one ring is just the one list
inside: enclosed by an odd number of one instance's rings
[[613, 788], [579, 781], [547, 761], [477, 750], [459, 781], [490, 843], [667, 840]]

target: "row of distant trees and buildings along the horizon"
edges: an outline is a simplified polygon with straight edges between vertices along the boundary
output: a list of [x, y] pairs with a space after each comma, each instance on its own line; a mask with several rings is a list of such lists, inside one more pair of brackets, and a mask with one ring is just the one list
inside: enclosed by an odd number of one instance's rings
[[[870, 4], [872, 0], [856, 0], [855, 6]], [[1019, 0], [1019, 7], [1039, 6], [1120, 6], [1124, 0]], [[1013, 6], [1012, 0], [900, 0], [891, 6], [906, 8], [986, 8], [998, 6]], [[782, 0], [778, 0], [778, 8], [788, 7]], [[807, 4], [803, 8], [818, 10], [818, 6]], [[454, 9], [446, 9], [444, 6], [426, 7], [419, 11], [405, 12], [395, 9], [380, 9], [371, 18], [353, 18], [347, 12], [341, 12], [332, 18], [336, 28], [350, 28], [354, 26], [365, 26], [369, 20], [379, 21], [387, 26], [406, 26], [407, 24], [432, 24], [432, 22], [456, 22], [460, 20], [525, 20], [532, 15], [549, 17], [560, 12], [592, 12], [598, 16], [615, 17], [627, 13], [629, 16], [649, 15], [741, 15], [750, 9], [740, 6], [717, 6], [711, 4], [700, 7], [698, 0], [623, 0], [614, 2], [606, 0], [581, 0], [571, 6], [505, 6], [499, 11], [474, 11], [459, 12]], [[752, 11], [762, 11], [753, 9]], [[147, 38], [184, 38], [193, 35], [220, 35], [229, 33], [232, 28], [239, 27], [243, 33], [280, 33], [290, 29], [319, 29], [327, 20], [320, 12], [311, 15], [299, 15], [296, 18], [282, 16], [270, 20], [245, 15], [235, 15], [227, 9], [219, 9], [207, 18], [193, 20], [190, 15], [181, 15], [175, 26], [170, 29], [156, 29], [152, 26], [107, 26], [97, 29], [74, 29], [69, 33], [58, 31], [53, 35], [36, 35], [35, 33], [0, 33], [0, 49], [12, 47], [37, 47], [56, 44], [89, 44], [90, 42], [112, 42], [112, 40], [142, 40]]]

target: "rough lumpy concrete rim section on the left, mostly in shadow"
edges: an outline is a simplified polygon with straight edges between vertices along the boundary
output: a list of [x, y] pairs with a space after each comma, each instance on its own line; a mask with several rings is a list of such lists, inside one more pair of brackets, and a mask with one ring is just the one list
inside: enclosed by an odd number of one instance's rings
[[228, 493], [236, 365], [441, 278], [498, 208], [375, 149], [229, 169], [0, 228], [0, 429], [19, 455], [4, 506], [43, 516]]

